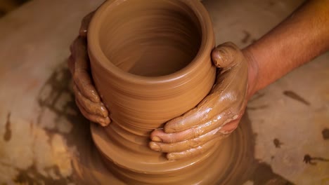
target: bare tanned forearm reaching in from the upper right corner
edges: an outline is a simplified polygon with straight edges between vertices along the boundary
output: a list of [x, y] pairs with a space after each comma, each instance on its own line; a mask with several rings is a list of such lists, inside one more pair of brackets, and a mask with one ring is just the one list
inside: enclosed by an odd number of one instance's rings
[[307, 1], [243, 50], [252, 65], [250, 96], [329, 49], [329, 0]]

